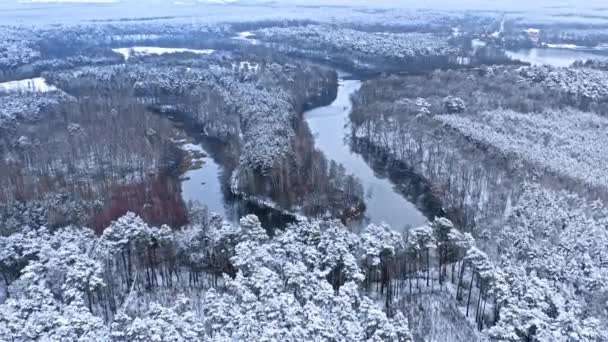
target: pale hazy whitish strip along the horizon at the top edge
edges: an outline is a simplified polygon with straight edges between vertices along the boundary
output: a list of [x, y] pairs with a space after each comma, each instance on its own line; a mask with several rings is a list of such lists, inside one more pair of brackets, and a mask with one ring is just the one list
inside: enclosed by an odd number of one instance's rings
[[[254, 4], [261, 6], [250, 7]], [[445, 11], [509, 11], [517, 16], [547, 16], [549, 20], [555, 15], [562, 15], [563, 19], [563, 14], [603, 14], [608, 18], [606, 0], [0, 0], [0, 23], [46, 24], [154, 16], [231, 21], [239, 19], [239, 14], [250, 20], [278, 16], [302, 18], [306, 15], [310, 15], [310, 19], [319, 20], [328, 16], [348, 17], [349, 12], [346, 9], [333, 7], [331, 10], [319, 11], [310, 8], [327, 5]], [[272, 9], [268, 10], [263, 6]]]

